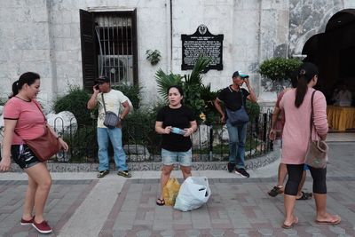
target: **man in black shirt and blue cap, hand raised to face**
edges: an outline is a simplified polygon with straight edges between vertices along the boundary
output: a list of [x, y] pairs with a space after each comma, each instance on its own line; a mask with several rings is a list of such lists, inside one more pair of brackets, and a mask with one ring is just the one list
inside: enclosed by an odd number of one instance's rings
[[[225, 109], [229, 109], [230, 111], [243, 109], [246, 105], [246, 99], [256, 102], [256, 94], [251, 89], [248, 77], [248, 75], [241, 71], [234, 72], [232, 75], [233, 84], [222, 90], [214, 102], [217, 111], [221, 115], [221, 122], [227, 125], [229, 135], [228, 171], [232, 172], [235, 168], [235, 173], [241, 175], [243, 178], [249, 178], [244, 164], [248, 122], [233, 125], [228, 117], [225, 116], [225, 110], [222, 108], [221, 102], [224, 102]], [[243, 83], [247, 85], [248, 91], [241, 88]]]

